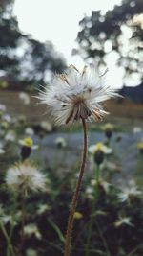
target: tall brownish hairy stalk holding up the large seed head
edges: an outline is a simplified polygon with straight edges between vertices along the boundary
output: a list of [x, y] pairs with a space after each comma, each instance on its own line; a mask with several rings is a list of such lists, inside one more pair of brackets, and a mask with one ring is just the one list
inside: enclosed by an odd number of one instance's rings
[[79, 172], [78, 180], [76, 183], [76, 189], [75, 189], [75, 192], [74, 192], [74, 195], [72, 198], [72, 207], [71, 207], [71, 211], [70, 211], [67, 233], [66, 233], [64, 256], [70, 256], [70, 254], [71, 254], [71, 237], [72, 237], [72, 226], [73, 226], [74, 212], [75, 212], [76, 205], [77, 205], [81, 181], [82, 181], [82, 177], [84, 175], [86, 159], [87, 159], [87, 144], [88, 143], [87, 143], [87, 126], [86, 126], [85, 119], [82, 119], [82, 125], [83, 125], [83, 131], [84, 131], [84, 151], [83, 151], [83, 156], [82, 156], [80, 172]]

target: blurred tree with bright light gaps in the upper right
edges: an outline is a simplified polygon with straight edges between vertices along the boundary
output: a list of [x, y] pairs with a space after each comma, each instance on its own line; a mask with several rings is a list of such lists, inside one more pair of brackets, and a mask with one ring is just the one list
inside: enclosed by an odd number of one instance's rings
[[103, 14], [92, 11], [80, 22], [77, 35], [80, 54], [92, 58], [98, 66], [106, 65], [112, 51], [117, 54], [117, 64], [125, 68], [125, 80], [137, 75], [143, 80], [143, 1], [123, 0], [120, 6]]

